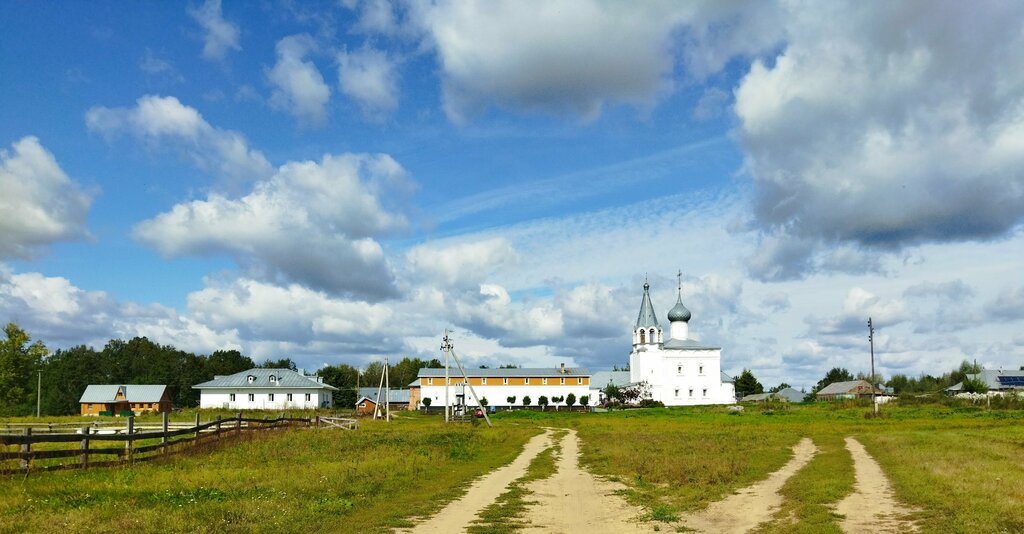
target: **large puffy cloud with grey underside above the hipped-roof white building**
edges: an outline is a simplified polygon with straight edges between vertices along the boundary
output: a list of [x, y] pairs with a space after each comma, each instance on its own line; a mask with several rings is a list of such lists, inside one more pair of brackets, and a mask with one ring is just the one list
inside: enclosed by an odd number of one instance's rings
[[240, 199], [178, 204], [134, 235], [165, 256], [223, 253], [259, 280], [382, 298], [394, 292], [393, 275], [375, 238], [407, 222], [380, 196], [404, 181], [386, 155], [291, 162]]

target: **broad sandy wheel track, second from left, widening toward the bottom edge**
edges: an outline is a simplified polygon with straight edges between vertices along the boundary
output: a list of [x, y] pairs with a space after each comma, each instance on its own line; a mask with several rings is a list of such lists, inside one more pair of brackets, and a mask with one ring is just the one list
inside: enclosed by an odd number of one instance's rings
[[526, 486], [536, 503], [526, 509], [525, 518], [530, 525], [523, 532], [653, 532], [653, 526], [639, 523], [641, 508], [614, 494], [626, 486], [598, 479], [580, 467], [580, 440], [575, 430], [570, 429], [561, 445], [557, 473]]

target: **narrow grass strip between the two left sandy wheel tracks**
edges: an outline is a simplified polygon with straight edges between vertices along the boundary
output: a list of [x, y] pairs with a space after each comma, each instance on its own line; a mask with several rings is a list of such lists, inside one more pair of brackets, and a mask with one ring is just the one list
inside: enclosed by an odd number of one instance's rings
[[479, 520], [473, 522], [467, 529], [470, 534], [506, 534], [521, 530], [528, 525], [523, 515], [526, 506], [534, 501], [527, 500], [531, 492], [526, 486], [530, 482], [547, 479], [555, 474], [555, 462], [562, 451], [561, 439], [566, 434], [566, 430], [553, 433], [551, 437], [553, 445], [530, 460], [525, 475], [512, 483], [508, 491], [480, 512]]

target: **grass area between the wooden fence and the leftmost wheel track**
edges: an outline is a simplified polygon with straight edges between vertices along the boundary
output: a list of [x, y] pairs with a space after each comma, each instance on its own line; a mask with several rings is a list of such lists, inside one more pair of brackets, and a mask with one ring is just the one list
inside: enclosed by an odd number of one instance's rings
[[373, 532], [408, 526], [539, 430], [364, 421], [159, 463], [0, 480], [0, 532]]

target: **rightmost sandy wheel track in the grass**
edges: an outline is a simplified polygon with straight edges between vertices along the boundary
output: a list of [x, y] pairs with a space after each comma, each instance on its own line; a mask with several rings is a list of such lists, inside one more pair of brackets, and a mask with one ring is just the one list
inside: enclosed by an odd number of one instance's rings
[[914, 510], [896, 500], [879, 462], [853, 438], [846, 439], [846, 448], [853, 456], [855, 481], [853, 493], [836, 505], [836, 512], [845, 518], [840, 525], [843, 532], [916, 531], [918, 526], [906, 519]]

